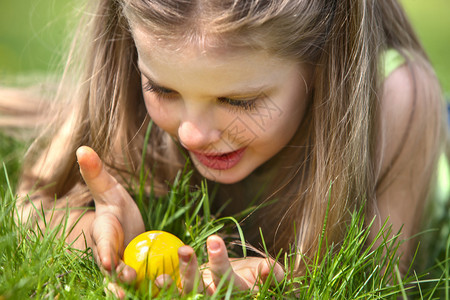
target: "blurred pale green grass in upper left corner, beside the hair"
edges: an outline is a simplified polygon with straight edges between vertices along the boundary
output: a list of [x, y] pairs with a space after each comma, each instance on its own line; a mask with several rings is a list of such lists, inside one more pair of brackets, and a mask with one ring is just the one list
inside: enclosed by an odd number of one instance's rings
[[58, 69], [77, 14], [75, 1], [4, 0], [0, 3], [0, 76]]

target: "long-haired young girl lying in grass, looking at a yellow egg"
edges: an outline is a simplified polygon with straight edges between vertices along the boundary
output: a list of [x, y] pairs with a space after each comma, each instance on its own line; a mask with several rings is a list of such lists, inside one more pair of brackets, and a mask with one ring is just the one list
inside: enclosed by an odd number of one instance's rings
[[[402, 228], [408, 266], [442, 151], [443, 102], [397, 1], [90, 3], [56, 95], [61, 109], [29, 151], [24, 217], [30, 202], [49, 213], [71, 207], [68, 241], [131, 282], [123, 249], [144, 224], [124, 185], [137, 177], [152, 121], [154, 192], [167, 192], [189, 156], [198, 182], [221, 184], [214, 205], [232, 199], [223, 213], [259, 195], [264, 208], [245, 219], [245, 238], [257, 245], [261, 228], [270, 253], [296, 251], [295, 274], [300, 256], [318, 250], [328, 207], [329, 243], [364, 205], [372, 238], [386, 219]], [[95, 210], [82, 214], [86, 206]], [[196, 276], [209, 293], [224, 274], [241, 289], [271, 267], [283, 278], [271, 259], [229, 260], [218, 236], [207, 248], [201, 274], [193, 249], [179, 249], [183, 292]]]

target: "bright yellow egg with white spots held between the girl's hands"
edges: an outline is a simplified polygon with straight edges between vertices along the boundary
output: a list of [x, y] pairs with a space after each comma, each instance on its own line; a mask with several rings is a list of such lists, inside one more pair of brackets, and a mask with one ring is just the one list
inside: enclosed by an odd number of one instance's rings
[[128, 244], [123, 260], [136, 270], [139, 288], [148, 290], [151, 284], [152, 296], [155, 296], [159, 289], [154, 280], [159, 275], [169, 275], [180, 287], [178, 248], [183, 245], [183, 242], [171, 233], [159, 230], [147, 231]]

